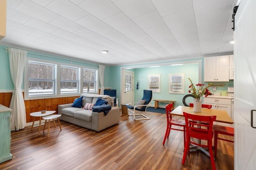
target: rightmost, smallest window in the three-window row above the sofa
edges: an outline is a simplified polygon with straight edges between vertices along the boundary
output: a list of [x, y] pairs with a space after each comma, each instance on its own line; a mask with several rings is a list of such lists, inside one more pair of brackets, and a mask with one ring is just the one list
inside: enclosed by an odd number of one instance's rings
[[83, 70], [83, 91], [96, 92], [96, 70]]

